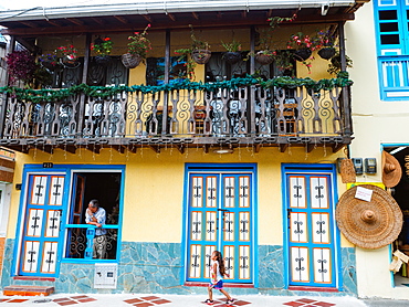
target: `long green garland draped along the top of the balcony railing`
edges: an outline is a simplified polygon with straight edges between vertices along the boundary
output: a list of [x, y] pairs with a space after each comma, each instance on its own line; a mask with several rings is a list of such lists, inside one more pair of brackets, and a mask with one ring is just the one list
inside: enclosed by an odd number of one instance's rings
[[314, 81], [310, 77], [293, 78], [287, 76], [274, 77], [268, 81], [262, 81], [260, 77], [248, 75], [247, 77], [232, 78], [230, 81], [202, 83], [190, 82], [182, 80], [172, 84], [165, 84], [160, 86], [151, 85], [132, 85], [132, 86], [90, 86], [86, 84], [74, 85], [70, 88], [60, 89], [29, 89], [13, 86], [0, 87], [0, 93], [9, 94], [19, 100], [31, 100], [33, 103], [62, 100], [70, 96], [84, 93], [86, 96], [95, 98], [108, 98], [120, 93], [136, 93], [154, 94], [157, 92], [188, 89], [188, 91], [207, 91], [216, 92], [220, 88], [234, 89], [241, 86], [260, 85], [263, 88], [281, 87], [295, 88], [304, 86], [310, 92], [319, 92], [321, 89], [333, 89], [335, 87], [344, 87], [352, 85], [353, 82], [348, 78], [347, 73], [340, 73], [336, 78], [324, 78]]

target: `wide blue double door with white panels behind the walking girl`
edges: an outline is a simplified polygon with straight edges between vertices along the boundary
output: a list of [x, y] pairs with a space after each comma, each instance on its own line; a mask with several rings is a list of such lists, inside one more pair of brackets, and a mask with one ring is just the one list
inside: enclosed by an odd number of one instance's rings
[[209, 282], [210, 256], [223, 254], [230, 277], [253, 283], [252, 173], [190, 173], [187, 280]]

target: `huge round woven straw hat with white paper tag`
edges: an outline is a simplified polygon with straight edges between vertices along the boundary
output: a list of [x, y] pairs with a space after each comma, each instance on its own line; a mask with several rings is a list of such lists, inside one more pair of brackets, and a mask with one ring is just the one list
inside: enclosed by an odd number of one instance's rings
[[[373, 190], [370, 201], [355, 198], [358, 187]], [[335, 219], [348, 241], [363, 248], [380, 248], [399, 235], [403, 218], [398, 203], [385, 190], [361, 184], [350, 188], [339, 199]]]

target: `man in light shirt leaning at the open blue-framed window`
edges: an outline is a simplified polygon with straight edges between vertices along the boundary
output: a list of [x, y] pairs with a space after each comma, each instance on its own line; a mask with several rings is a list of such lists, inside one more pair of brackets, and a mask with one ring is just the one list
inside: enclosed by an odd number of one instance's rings
[[88, 209], [85, 212], [85, 223], [95, 225], [95, 236], [93, 241], [93, 258], [103, 260], [106, 257], [106, 230], [101, 229], [105, 225], [106, 213], [105, 209], [99, 207], [97, 200], [91, 200]]

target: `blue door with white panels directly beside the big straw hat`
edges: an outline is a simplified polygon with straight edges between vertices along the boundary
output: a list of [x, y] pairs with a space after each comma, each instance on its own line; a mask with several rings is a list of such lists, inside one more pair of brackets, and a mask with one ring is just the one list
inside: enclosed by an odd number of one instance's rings
[[335, 287], [331, 174], [286, 174], [290, 286]]

